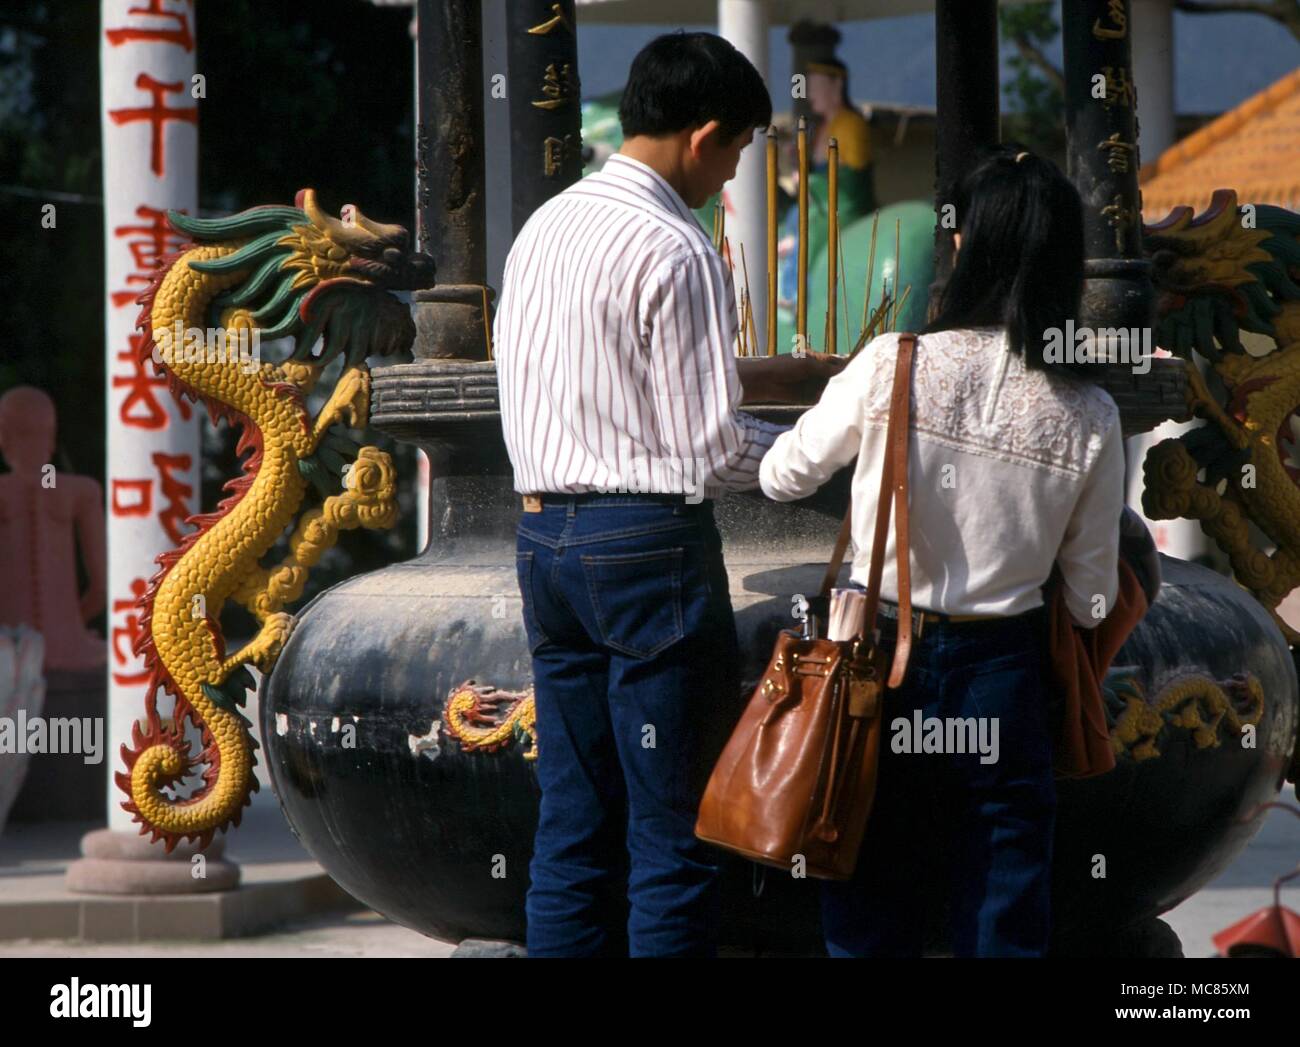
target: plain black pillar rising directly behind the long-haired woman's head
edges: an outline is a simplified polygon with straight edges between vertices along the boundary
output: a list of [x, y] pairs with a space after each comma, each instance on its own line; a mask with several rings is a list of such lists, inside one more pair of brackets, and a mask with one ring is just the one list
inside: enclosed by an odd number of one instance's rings
[[[935, 74], [939, 108], [935, 142], [935, 282], [953, 271], [953, 233], [944, 204], [982, 146], [998, 140], [997, 0], [936, 0]], [[957, 225], [961, 225], [961, 217]]]

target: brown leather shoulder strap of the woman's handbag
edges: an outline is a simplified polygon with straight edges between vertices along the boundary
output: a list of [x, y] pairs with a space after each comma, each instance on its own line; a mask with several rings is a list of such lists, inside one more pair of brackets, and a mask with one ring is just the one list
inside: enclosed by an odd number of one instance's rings
[[[867, 577], [867, 606], [863, 630], [872, 628], [880, 606], [880, 577], [884, 571], [885, 536], [889, 533], [889, 511], [894, 510], [894, 548], [898, 554], [898, 643], [894, 648], [889, 685], [898, 687], [907, 671], [911, 653], [911, 563], [909, 557], [907, 520], [907, 434], [911, 415], [911, 362], [916, 336], [898, 336], [898, 354], [894, 362], [893, 393], [889, 399], [889, 425], [885, 429], [884, 463], [880, 470], [880, 496], [876, 502], [876, 531], [871, 541], [871, 574]], [[835, 551], [822, 581], [822, 596], [829, 597], [840, 574], [844, 553], [852, 532], [853, 505], [844, 514]]]

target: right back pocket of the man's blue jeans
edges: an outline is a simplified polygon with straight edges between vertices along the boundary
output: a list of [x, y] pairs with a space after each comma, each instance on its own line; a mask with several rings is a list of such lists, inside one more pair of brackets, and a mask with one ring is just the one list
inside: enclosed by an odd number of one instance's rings
[[679, 545], [581, 557], [602, 643], [632, 658], [650, 658], [685, 635], [684, 551]]

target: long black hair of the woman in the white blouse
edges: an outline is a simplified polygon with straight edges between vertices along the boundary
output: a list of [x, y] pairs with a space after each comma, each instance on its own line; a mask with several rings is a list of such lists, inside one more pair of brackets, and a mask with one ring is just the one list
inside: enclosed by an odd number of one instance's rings
[[[1019, 157], [1019, 160], [1017, 160]], [[962, 246], [923, 329], [1001, 326], [1032, 369], [1097, 378], [1045, 356], [1048, 330], [1076, 320], [1083, 291], [1083, 202], [1050, 160], [1006, 143], [982, 151], [950, 194]]]

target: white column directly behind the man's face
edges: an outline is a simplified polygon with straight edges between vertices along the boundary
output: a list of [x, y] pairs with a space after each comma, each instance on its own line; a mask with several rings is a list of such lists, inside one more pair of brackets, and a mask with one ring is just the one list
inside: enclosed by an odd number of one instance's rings
[[[767, 81], [767, 0], [718, 0], [718, 35], [729, 40]], [[774, 107], [776, 99], [774, 99]], [[745, 286], [741, 274], [741, 245], [749, 268], [749, 299], [754, 311], [758, 345], [767, 345], [767, 159], [762, 135], [740, 156], [736, 177], [723, 190], [727, 207], [727, 239], [736, 267], [736, 304]], [[775, 317], [774, 317], [775, 319]]]

